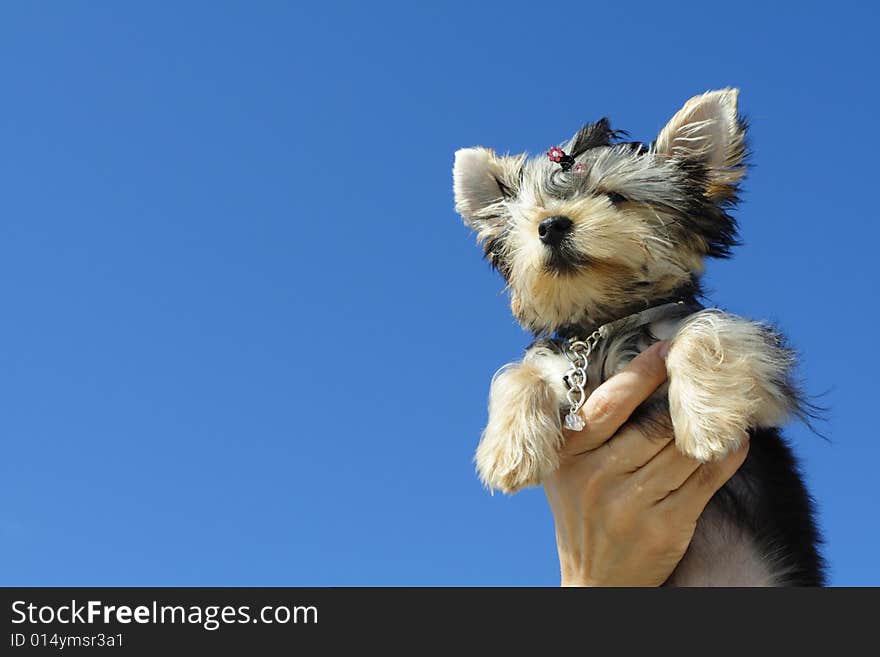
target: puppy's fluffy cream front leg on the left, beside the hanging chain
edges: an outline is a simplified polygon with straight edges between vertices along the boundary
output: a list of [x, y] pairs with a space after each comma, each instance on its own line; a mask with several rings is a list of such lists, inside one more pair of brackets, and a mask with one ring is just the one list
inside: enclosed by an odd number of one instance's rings
[[489, 422], [475, 458], [490, 489], [513, 493], [537, 486], [559, 466], [567, 369], [562, 354], [537, 343], [522, 362], [505, 365], [492, 378]]

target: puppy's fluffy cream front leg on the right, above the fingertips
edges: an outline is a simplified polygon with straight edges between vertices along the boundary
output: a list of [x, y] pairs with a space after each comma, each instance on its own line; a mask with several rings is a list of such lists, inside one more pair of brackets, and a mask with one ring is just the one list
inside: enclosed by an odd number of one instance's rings
[[719, 310], [687, 318], [669, 347], [669, 410], [681, 451], [700, 461], [736, 449], [749, 428], [798, 410], [794, 357], [766, 325]]

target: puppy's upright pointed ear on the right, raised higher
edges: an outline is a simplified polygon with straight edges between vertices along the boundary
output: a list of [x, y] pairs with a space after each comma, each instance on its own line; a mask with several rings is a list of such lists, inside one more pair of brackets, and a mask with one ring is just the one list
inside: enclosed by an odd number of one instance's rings
[[698, 164], [707, 176], [706, 195], [728, 198], [745, 175], [746, 124], [737, 112], [738, 89], [694, 96], [660, 131], [660, 156]]

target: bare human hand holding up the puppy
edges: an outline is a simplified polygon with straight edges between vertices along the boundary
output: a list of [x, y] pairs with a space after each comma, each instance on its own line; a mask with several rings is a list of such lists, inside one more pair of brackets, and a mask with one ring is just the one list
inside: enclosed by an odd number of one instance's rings
[[671, 429], [628, 423], [665, 380], [667, 342], [653, 345], [600, 385], [566, 431], [559, 469], [544, 481], [556, 525], [562, 586], [659, 586], [684, 556], [712, 495], [746, 458], [748, 443], [700, 463]]

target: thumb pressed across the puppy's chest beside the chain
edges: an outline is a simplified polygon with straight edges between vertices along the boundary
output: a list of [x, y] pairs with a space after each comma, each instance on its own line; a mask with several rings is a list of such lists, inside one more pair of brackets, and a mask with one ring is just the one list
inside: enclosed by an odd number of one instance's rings
[[569, 434], [565, 452], [579, 454], [596, 449], [666, 380], [666, 363], [658, 353], [665, 345], [652, 345], [593, 391], [581, 409], [586, 426]]

